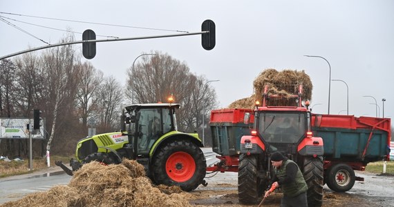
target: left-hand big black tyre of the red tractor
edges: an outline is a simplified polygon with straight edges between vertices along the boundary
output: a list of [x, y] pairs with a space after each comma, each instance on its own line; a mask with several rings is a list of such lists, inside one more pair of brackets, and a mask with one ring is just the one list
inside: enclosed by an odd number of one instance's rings
[[259, 177], [255, 156], [241, 154], [238, 164], [238, 199], [241, 204], [256, 204], [259, 199]]

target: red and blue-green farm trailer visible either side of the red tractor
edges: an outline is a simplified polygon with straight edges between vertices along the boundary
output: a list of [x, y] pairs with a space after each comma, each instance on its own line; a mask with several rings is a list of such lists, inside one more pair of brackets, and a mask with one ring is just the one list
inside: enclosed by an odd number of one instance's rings
[[[253, 122], [251, 109], [212, 110], [212, 149], [221, 161], [208, 171], [238, 171], [240, 140], [250, 135]], [[391, 119], [312, 114], [311, 124], [313, 134], [323, 139], [324, 182], [332, 190], [350, 190], [355, 180], [364, 180], [353, 170], [363, 171], [369, 162], [390, 158]]]

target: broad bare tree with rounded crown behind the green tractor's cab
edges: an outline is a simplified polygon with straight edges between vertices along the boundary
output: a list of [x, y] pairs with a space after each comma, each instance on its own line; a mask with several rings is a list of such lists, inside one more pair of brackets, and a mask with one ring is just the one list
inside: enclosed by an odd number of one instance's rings
[[134, 72], [129, 68], [127, 94], [134, 92], [138, 103], [167, 102], [173, 95], [175, 102], [182, 106], [177, 115], [180, 130], [195, 130], [202, 123], [199, 117], [203, 109], [209, 110], [216, 103], [214, 90], [204, 86], [205, 79], [193, 75], [186, 63], [155, 53], [158, 55], [142, 57], [142, 63], [134, 66]]

